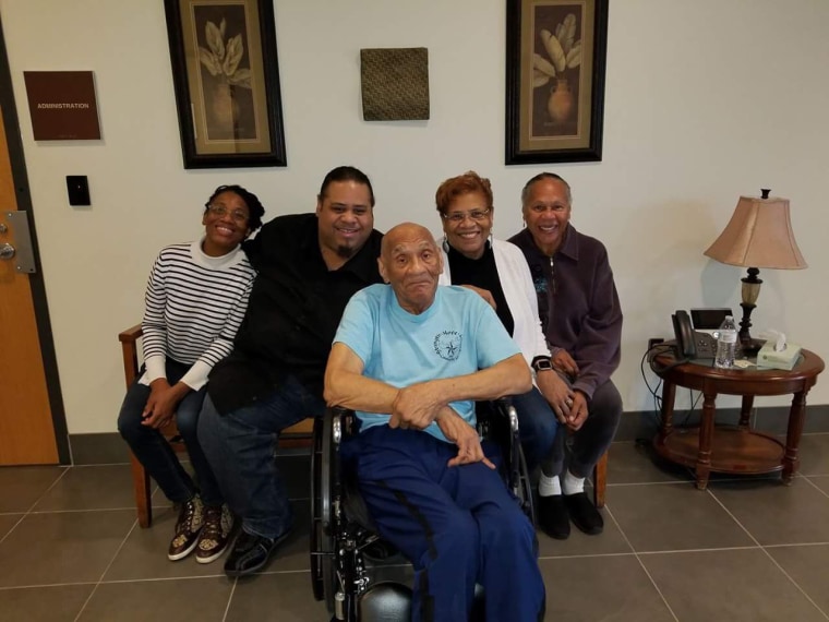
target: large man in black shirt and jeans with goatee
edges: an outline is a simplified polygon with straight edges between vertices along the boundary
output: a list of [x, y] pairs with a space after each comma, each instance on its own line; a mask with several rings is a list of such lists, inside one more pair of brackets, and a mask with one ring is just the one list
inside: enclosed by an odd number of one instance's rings
[[242, 530], [228, 576], [254, 573], [292, 527], [274, 444], [325, 411], [323, 374], [351, 296], [381, 283], [374, 193], [353, 167], [325, 177], [315, 214], [279, 216], [243, 247], [257, 271], [232, 354], [209, 376], [199, 439]]

